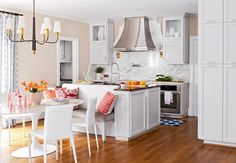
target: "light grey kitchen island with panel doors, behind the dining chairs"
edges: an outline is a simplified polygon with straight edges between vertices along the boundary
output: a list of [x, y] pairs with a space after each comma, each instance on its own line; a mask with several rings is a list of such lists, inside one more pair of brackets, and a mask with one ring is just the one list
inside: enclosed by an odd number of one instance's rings
[[[119, 89], [119, 85], [65, 84], [63, 87], [79, 88], [79, 98], [85, 101], [96, 96], [97, 106], [106, 92], [116, 94], [118, 98], [114, 109], [114, 121], [106, 123], [105, 128], [106, 135], [117, 140], [128, 141], [160, 125], [159, 87], [130, 91]], [[82, 107], [86, 108], [87, 104]], [[104, 126], [99, 123], [98, 126], [99, 133], [102, 133]]]

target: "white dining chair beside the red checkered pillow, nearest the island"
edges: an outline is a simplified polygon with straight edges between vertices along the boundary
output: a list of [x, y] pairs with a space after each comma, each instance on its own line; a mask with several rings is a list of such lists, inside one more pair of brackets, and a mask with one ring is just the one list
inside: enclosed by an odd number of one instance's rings
[[85, 117], [84, 118], [79, 118], [79, 117], [72, 118], [72, 127], [86, 128], [89, 157], [91, 157], [91, 148], [90, 148], [90, 139], [89, 139], [89, 128], [90, 127], [94, 128], [96, 145], [97, 145], [97, 149], [99, 149], [98, 136], [97, 136], [97, 125], [96, 125], [96, 121], [95, 121], [96, 104], [97, 104], [97, 98], [89, 99], [88, 100], [88, 108], [87, 108]]

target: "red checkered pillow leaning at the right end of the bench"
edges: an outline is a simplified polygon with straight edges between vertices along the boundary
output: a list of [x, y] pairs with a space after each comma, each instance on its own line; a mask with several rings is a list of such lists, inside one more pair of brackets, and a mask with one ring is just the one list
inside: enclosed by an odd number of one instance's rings
[[117, 96], [107, 92], [98, 105], [97, 111], [103, 115], [110, 114], [115, 106]]

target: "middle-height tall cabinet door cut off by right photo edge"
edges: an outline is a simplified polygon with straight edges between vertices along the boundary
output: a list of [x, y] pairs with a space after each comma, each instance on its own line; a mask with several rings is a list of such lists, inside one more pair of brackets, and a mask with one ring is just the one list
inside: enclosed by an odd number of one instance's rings
[[224, 63], [236, 62], [236, 23], [224, 25]]

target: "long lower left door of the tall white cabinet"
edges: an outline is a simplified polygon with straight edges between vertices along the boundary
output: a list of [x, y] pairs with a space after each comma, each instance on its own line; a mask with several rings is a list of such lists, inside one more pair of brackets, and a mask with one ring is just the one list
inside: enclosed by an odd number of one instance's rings
[[199, 138], [222, 141], [222, 65], [199, 67]]

